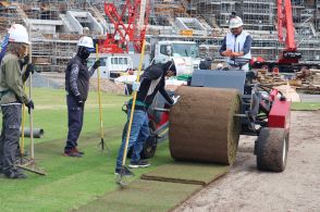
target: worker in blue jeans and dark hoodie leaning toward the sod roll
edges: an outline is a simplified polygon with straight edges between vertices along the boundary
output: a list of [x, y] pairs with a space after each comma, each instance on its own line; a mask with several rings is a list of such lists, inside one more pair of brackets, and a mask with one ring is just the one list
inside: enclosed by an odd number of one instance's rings
[[[140, 83], [133, 84], [133, 90], [137, 91], [137, 98], [128, 140], [128, 149], [133, 147], [131, 163], [128, 165], [128, 167], [131, 169], [147, 167], [150, 165], [148, 161], [140, 160], [140, 152], [143, 150], [144, 144], [149, 137], [149, 121], [147, 110], [148, 107], [152, 103], [155, 96], [158, 91], [170, 104], [173, 105], [177, 102], [180, 97], [177, 96], [170, 98], [170, 96], [164, 89], [165, 76], [170, 77], [173, 75], [176, 75], [176, 68], [173, 62], [169, 61], [164, 64], [150, 65], [141, 75]], [[132, 103], [133, 99], [128, 101], [127, 123], [131, 116]], [[122, 166], [126, 135], [123, 135], [122, 137], [123, 139], [121, 147], [119, 149], [114, 174], [132, 176], [133, 173], [125, 166]]]

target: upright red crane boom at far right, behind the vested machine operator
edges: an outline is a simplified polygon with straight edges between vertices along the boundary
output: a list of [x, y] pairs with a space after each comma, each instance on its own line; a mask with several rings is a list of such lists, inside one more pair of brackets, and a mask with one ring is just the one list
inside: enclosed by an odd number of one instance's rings
[[[283, 36], [284, 29], [286, 34], [285, 40]], [[298, 63], [301, 53], [297, 52], [291, 0], [278, 0], [278, 37], [281, 43], [285, 43], [285, 49], [278, 62]]]

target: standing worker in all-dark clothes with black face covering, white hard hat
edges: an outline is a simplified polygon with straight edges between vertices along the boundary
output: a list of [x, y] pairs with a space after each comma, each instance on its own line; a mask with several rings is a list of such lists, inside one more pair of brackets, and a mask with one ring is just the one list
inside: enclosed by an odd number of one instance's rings
[[79, 137], [85, 102], [88, 97], [89, 79], [95, 71], [100, 66], [97, 60], [88, 70], [87, 59], [95, 52], [94, 40], [84, 36], [77, 42], [76, 55], [71, 59], [65, 71], [65, 90], [67, 105], [67, 139], [64, 147], [65, 157], [83, 157], [84, 152], [77, 149], [77, 139]]

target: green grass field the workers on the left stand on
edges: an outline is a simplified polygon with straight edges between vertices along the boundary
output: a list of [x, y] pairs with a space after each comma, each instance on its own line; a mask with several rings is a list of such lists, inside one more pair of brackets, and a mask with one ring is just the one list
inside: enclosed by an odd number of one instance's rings
[[[85, 122], [79, 138], [82, 159], [62, 157], [66, 132], [65, 92], [58, 89], [34, 89], [34, 127], [45, 129], [45, 136], [35, 139], [35, 157], [38, 166], [48, 175], [27, 173], [25, 180], [0, 177], [1, 211], [67, 211], [84, 205], [106, 192], [118, 189], [114, 180], [114, 164], [121, 144], [122, 127], [126, 115], [121, 111], [128, 99], [124, 96], [102, 93], [104, 141], [110, 152], [100, 151], [98, 96], [89, 93]], [[26, 126], [28, 119], [26, 119]], [[25, 140], [29, 149], [29, 139]], [[152, 166], [135, 172], [143, 173], [170, 161], [168, 145], [158, 148]]]

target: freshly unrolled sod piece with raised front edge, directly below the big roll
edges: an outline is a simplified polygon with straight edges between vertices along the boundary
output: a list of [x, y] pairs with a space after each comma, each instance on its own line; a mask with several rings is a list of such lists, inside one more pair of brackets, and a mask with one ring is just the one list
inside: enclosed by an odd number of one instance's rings
[[181, 184], [208, 185], [229, 171], [229, 165], [201, 163], [172, 163], [143, 174], [143, 179]]

